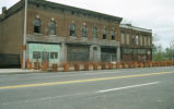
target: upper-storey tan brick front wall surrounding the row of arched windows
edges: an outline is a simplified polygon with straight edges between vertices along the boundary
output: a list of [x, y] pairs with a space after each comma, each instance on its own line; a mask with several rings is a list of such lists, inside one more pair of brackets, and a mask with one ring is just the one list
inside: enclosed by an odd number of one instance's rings
[[96, 26], [98, 29], [98, 39], [103, 38], [102, 29], [106, 26], [107, 39], [111, 40], [111, 31], [114, 27], [117, 33], [116, 40], [119, 40], [119, 24], [117, 22], [98, 20], [97, 17], [84, 16], [82, 14], [72, 14], [71, 11], [53, 10], [50, 8], [36, 7], [35, 4], [30, 4], [27, 10], [27, 34], [33, 34], [33, 21], [36, 16], [39, 16], [42, 21], [42, 34], [48, 35], [48, 23], [54, 17], [57, 23], [56, 35], [61, 37], [70, 36], [69, 26], [72, 22], [76, 23], [77, 37], [82, 36], [82, 25], [85, 23], [88, 27], [88, 38], [93, 38], [92, 28]]

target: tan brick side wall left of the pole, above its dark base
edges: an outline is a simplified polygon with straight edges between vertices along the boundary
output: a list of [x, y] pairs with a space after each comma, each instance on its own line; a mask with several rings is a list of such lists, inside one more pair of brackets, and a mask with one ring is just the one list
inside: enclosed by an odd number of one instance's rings
[[23, 40], [23, 11], [7, 17], [0, 25], [0, 53], [19, 55]]

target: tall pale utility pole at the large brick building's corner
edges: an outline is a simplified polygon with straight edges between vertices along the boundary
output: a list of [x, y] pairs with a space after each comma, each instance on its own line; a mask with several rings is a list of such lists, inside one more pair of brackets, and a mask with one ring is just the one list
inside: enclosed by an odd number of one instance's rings
[[25, 70], [26, 60], [26, 15], [27, 15], [27, 0], [25, 0], [25, 14], [24, 14], [24, 36], [23, 36], [23, 70]]

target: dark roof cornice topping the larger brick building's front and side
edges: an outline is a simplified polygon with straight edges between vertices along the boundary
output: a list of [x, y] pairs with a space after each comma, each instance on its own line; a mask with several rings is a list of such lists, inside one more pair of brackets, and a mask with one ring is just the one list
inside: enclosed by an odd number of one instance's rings
[[[58, 8], [58, 9], [63, 9], [63, 10], [78, 11], [78, 12], [85, 13], [85, 14], [98, 15], [100, 17], [103, 16], [103, 17], [106, 17], [106, 19], [115, 20], [118, 23], [120, 23], [123, 21], [123, 17], [108, 15], [108, 14], [104, 14], [104, 13], [100, 13], [100, 12], [95, 12], [95, 11], [91, 11], [91, 10], [86, 10], [86, 9], [80, 9], [80, 8], [76, 8], [76, 7], [71, 7], [71, 5], [66, 5], [66, 4], [55, 3], [55, 2], [50, 2], [50, 1], [45, 1], [45, 0], [28, 0], [28, 3], [39, 3], [39, 4], [48, 5], [48, 7], [51, 7], [51, 8]], [[18, 3], [15, 3], [14, 5], [12, 5], [11, 8], [9, 8], [7, 10], [5, 17], [1, 17], [0, 22], [5, 20], [10, 15], [14, 14], [15, 12], [22, 10], [23, 7], [24, 7], [24, 0], [20, 0]], [[3, 13], [1, 13], [0, 16]]]

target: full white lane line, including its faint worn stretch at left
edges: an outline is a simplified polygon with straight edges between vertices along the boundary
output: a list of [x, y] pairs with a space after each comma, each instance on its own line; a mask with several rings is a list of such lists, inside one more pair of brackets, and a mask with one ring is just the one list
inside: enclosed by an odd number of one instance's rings
[[97, 90], [97, 92], [91, 92], [91, 93], [79, 93], [79, 94], [70, 94], [70, 95], [61, 95], [61, 96], [54, 96], [54, 97], [43, 97], [37, 99], [26, 99], [21, 101], [13, 101], [13, 102], [3, 102], [0, 105], [11, 105], [11, 104], [28, 104], [28, 102], [36, 102], [36, 101], [49, 101], [49, 99], [57, 99], [57, 98], [65, 98], [65, 97], [72, 97], [72, 96], [86, 96], [86, 95], [95, 95], [95, 94], [102, 94], [107, 92], [116, 92], [121, 89], [128, 89], [128, 88], [135, 88], [135, 87], [142, 87], [142, 86], [149, 86], [159, 84], [160, 82], [153, 82], [153, 83], [146, 83], [146, 84], [138, 84], [138, 85], [131, 85], [131, 86], [125, 86], [125, 87], [118, 87], [118, 88], [112, 88], [112, 89], [104, 89], [104, 90]]

